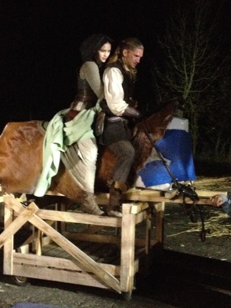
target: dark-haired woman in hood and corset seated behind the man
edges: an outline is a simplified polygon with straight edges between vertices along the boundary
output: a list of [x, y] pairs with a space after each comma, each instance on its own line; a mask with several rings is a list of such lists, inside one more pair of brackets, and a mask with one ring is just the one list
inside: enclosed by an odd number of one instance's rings
[[[89, 109], [94, 108], [104, 98], [102, 75], [111, 51], [111, 43], [111, 38], [104, 34], [93, 34], [82, 43], [80, 52], [83, 64], [78, 71], [78, 91], [66, 115], [66, 125], [77, 114], [81, 117], [84, 113], [88, 114]], [[82, 129], [92, 131], [92, 127], [88, 127], [86, 123]], [[78, 177], [78, 181], [84, 190], [81, 210], [93, 215], [102, 215], [104, 212], [99, 208], [94, 197], [98, 147], [93, 134], [90, 137], [81, 138], [77, 142], [80, 159], [74, 168], [76, 174], [81, 174], [81, 179]]]

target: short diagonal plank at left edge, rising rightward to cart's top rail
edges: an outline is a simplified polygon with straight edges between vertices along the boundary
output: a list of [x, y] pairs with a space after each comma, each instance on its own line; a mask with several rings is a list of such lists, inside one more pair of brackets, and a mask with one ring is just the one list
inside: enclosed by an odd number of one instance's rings
[[29, 220], [29, 218], [36, 213], [37, 210], [38, 207], [36, 204], [30, 204], [27, 208], [21, 211], [20, 215], [18, 215], [18, 217], [0, 234], [0, 248], [9, 237], [13, 236]]

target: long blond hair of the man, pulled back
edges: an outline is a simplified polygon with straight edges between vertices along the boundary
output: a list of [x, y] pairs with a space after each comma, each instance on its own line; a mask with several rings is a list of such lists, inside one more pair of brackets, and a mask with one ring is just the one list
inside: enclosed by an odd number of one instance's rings
[[108, 63], [114, 63], [117, 60], [123, 59], [123, 50], [133, 51], [136, 48], [144, 49], [143, 44], [136, 37], [128, 37], [121, 41], [114, 54], [110, 57]]

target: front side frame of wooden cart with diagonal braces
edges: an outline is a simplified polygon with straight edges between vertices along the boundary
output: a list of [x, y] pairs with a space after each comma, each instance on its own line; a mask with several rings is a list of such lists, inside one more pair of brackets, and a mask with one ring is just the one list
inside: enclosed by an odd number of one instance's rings
[[[4, 202], [6, 204], [5, 230], [0, 235], [0, 243], [4, 244], [4, 259], [8, 260], [4, 265], [4, 274], [112, 288], [118, 293], [132, 292], [134, 275], [139, 269], [139, 260], [134, 258], [135, 228], [136, 224], [146, 219], [147, 203], [125, 203], [122, 205], [123, 217], [115, 218], [43, 210], [38, 209], [33, 202], [27, 208], [24, 208], [20, 202], [9, 195], [4, 196]], [[14, 215], [14, 212], [16, 215]], [[96, 226], [106, 225], [121, 228], [121, 264], [118, 266], [95, 262], [53, 229], [46, 220], [84, 222], [85, 224], [90, 222]], [[34, 232], [36, 241], [40, 242], [36, 254], [21, 254], [13, 250], [13, 234], [27, 221], [38, 229], [37, 232]], [[54, 259], [53, 257], [43, 256], [42, 233], [62, 247], [74, 260], [66, 261], [60, 258]]]

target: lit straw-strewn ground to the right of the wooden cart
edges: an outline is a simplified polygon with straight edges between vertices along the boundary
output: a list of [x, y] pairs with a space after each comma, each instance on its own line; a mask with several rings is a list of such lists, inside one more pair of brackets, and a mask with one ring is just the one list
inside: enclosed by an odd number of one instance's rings
[[[228, 191], [231, 179], [199, 177], [194, 183], [198, 189]], [[181, 205], [167, 205], [165, 210], [165, 248], [201, 257], [231, 262], [231, 218], [222, 209], [204, 207], [206, 238], [200, 238], [201, 219], [192, 223]]]

